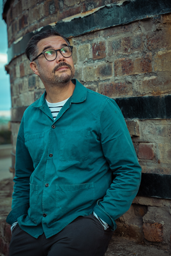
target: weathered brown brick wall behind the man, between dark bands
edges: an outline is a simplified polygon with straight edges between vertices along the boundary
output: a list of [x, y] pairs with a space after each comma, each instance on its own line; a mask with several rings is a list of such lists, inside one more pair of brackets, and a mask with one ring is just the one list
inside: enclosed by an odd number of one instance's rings
[[[15, 0], [3, 13], [9, 47], [42, 26], [116, 2], [119, 1]], [[89, 89], [115, 99], [171, 94], [171, 14], [91, 31], [71, 37], [70, 43], [74, 47], [75, 78]], [[24, 54], [13, 58], [6, 70], [11, 81], [11, 130], [15, 153], [20, 126], [16, 111], [20, 110], [22, 115], [24, 106], [37, 100], [44, 87], [29, 68]], [[163, 107], [158, 106], [159, 109]], [[140, 108], [146, 112], [152, 110], [148, 105], [140, 105]], [[171, 119], [134, 118], [126, 119], [126, 123], [142, 172], [170, 177]], [[130, 210], [117, 220], [115, 234], [168, 249], [170, 209], [170, 199], [138, 196]]]

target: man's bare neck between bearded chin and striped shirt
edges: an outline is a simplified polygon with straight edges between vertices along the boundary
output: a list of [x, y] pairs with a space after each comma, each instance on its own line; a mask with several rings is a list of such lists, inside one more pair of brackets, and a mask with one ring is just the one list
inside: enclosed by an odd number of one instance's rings
[[45, 86], [45, 89], [47, 92], [47, 101], [50, 103], [57, 103], [63, 102], [63, 100], [70, 98], [75, 89], [75, 84], [73, 84], [73, 82], [70, 80], [70, 82], [64, 84], [64, 86]]

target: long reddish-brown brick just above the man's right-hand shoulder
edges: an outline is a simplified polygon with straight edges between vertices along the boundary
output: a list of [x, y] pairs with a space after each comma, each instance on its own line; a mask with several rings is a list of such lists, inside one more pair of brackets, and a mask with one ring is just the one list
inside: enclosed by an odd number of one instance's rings
[[103, 82], [98, 86], [98, 93], [115, 98], [131, 96], [133, 91], [131, 85], [124, 82]]

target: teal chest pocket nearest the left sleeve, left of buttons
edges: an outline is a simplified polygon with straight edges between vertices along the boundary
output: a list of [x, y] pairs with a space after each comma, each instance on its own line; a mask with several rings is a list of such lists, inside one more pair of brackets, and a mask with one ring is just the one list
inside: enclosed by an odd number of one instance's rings
[[26, 136], [25, 144], [33, 162], [40, 160], [44, 151], [44, 133]]

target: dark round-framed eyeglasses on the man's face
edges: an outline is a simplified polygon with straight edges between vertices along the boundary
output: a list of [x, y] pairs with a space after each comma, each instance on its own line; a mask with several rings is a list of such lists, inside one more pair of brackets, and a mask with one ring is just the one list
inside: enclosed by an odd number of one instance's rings
[[[57, 51], [59, 50], [59, 52], [62, 54], [63, 57], [71, 57], [72, 55], [72, 50], [73, 50], [73, 46], [64, 46], [61, 49], [49, 49], [49, 50], [43, 50], [43, 52], [41, 52], [41, 54], [43, 54], [45, 56], [45, 59], [47, 59], [47, 61], [54, 61], [54, 59], [56, 59], [57, 57]], [[33, 59], [33, 61], [35, 61], [35, 59], [38, 59], [39, 56], [41, 56], [41, 54], [39, 54], [37, 57], [35, 57]]]

